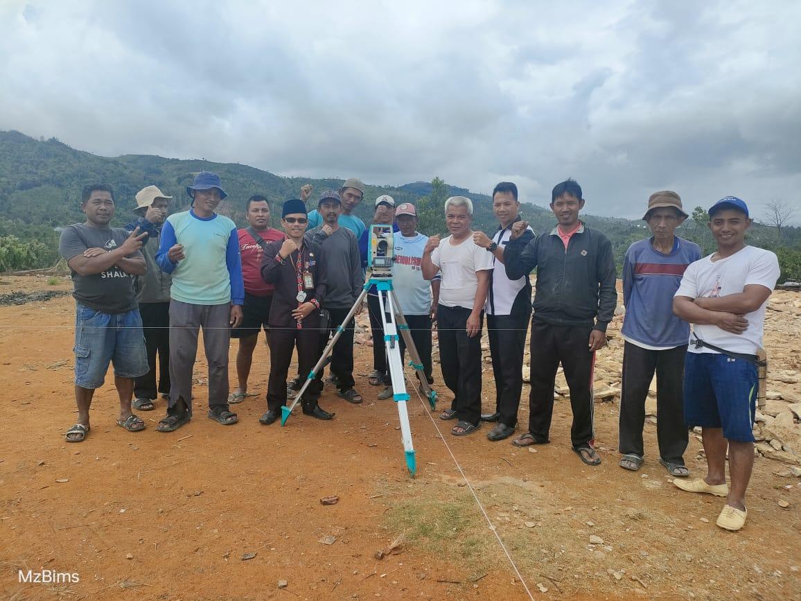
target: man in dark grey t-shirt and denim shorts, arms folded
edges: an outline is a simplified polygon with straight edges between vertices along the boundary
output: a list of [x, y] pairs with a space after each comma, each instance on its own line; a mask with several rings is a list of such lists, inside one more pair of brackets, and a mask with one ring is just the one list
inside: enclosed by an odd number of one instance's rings
[[147, 373], [142, 320], [136, 305], [133, 276], [146, 271], [142, 239], [110, 228], [114, 216], [111, 186], [83, 188], [81, 209], [86, 223], [65, 228], [58, 252], [70, 266], [75, 297], [75, 401], [78, 422], [66, 431], [66, 442], [82, 442], [89, 434], [89, 408], [95, 389], [103, 385], [109, 363], [119, 394], [117, 425], [129, 432], [145, 424], [131, 413], [134, 378]]

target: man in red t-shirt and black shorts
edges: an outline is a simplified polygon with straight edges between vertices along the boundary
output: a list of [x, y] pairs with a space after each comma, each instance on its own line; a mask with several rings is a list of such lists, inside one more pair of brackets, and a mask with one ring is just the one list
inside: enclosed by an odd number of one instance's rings
[[239, 350], [236, 353], [239, 387], [228, 397], [229, 403], [241, 403], [248, 396], [248, 377], [259, 330], [264, 328], [264, 336], [269, 338], [270, 303], [275, 286], [262, 279], [261, 263], [268, 243], [286, 237], [284, 232], [270, 227], [270, 205], [264, 196], [251, 196], [246, 207], [248, 227], [236, 232], [239, 236], [245, 300], [242, 305], [242, 324], [231, 330], [231, 338], [239, 338]]

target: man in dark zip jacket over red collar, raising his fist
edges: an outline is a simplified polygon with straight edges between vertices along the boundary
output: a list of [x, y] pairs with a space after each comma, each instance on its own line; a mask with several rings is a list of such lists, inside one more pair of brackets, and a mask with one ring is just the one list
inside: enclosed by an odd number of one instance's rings
[[567, 179], [557, 184], [550, 207], [558, 224], [549, 234], [525, 244], [521, 235], [529, 224], [518, 221], [504, 251], [510, 280], [537, 268], [531, 322], [529, 432], [513, 444], [549, 442], [553, 384], [562, 361], [573, 409], [573, 450], [587, 465], [598, 466], [601, 458], [594, 449], [593, 367], [595, 351], [606, 344], [606, 326], [617, 306], [617, 272], [609, 240], [578, 219], [584, 199], [577, 182]]

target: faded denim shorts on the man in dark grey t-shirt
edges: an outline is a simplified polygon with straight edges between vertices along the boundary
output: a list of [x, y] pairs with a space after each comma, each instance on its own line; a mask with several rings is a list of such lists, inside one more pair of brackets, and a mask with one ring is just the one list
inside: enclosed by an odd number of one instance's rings
[[150, 370], [139, 309], [110, 315], [77, 303], [74, 352], [75, 384], [81, 388], [100, 388], [109, 363], [117, 377], [139, 377]]

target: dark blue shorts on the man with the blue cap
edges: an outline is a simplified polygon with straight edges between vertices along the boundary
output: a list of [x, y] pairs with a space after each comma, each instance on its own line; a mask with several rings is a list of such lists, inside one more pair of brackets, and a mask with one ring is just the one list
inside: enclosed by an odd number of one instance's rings
[[756, 365], [721, 353], [687, 353], [684, 420], [690, 428], [723, 428], [723, 438], [754, 442]]

